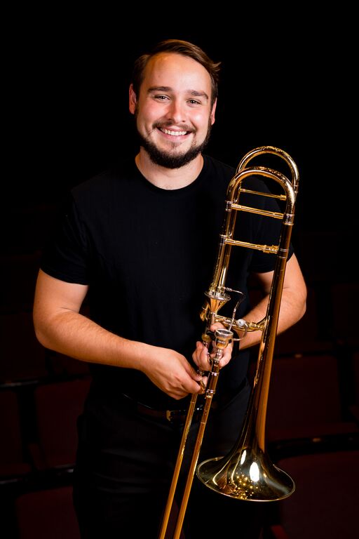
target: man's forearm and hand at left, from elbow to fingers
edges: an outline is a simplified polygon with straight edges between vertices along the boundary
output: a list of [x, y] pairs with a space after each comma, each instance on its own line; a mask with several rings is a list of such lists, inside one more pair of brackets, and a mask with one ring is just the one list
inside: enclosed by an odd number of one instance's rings
[[174, 350], [122, 338], [82, 314], [62, 310], [36, 324], [43, 346], [80, 361], [142, 371], [161, 391], [174, 399], [200, 392], [202, 376]]

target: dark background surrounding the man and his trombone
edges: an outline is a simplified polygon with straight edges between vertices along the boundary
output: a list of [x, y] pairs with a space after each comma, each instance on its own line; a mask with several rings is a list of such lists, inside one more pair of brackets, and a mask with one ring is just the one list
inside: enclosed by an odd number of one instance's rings
[[[273, 145], [288, 152], [299, 168], [293, 242], [309, 285], [309, 301], [302, 321], [276, 340], [277, 354], [296, 354], [294, 366], [298, 371], [289, 373], [290, 383], [277, 371], [279, 406], [274, 409], [287, 413], [290, 420], [285, 419], [284, 427], [293, 424], [297, 444], [280, 446], [286, 438], [280, 439], [279, 446], [273, 445], [275, 456], [279, 458], [286, 451], [305, 455], [348, 449], [353, 447], [353, 440], [358, 447], [358, 375], [354, 378], [354, 372], [358, 373], [358, 29], [353, 28], [357, 18], [344, 3], [334, 4], [332, 10], [327, 5], [316, 6], [316, 10], [313, 13], [308, 6], [295, 2], [284, 7], [222, 2], [213, 6], [162, 3], [144, 7], [137, 3], [108, 8], [93, 3], [89, 8], [73, 3], [3, 8], [0, 307], [4, 328], [0, 324], [0, 381], [4, 391], [0, 396], [11, 394], [15, 388], [25, 465], [34, 466], [29, 442], [43, 448], [41, 436], [46, 441], [48, 434], [55, 435], [50, 429], [36, 430], [35, 390], [43, 386], [53, 394], [53, 382], [83, 376], [81, 362], [43, 350], [34, 336], [32, 301], [41, 248], [67, 190], [137, 152], [133, 117], [128, 112], [131, 68], [138, 55], [168, 38], [193, 41], [213, 60], [222, 61], [217, 117], [208, 153], [236, 166], [250, 149]], [[338, 385], [331, 378], [333, 358]], [[43, 401], [43, 410], [50, 411], [50, 425], [58, 427], [60, 442], [74, 442], [70, 447], [74, 451], [76, 433], [69, 436], [69, 429], [74, 427], [77, 406], [82, 406], [82, 401], [75, 399], [72, 410], [62, 413], [62, 406], [66, 406], [62, 397], [67, 397], [69, 387], [65, 383], [60, 396], [53, 394], [52, 407]], [[340, 418], [327, 420], [332, 408], [337, 413], [337, 404]], [[348, 420], [353, 421], [353, 411], [349, 413], [352, 404], [356, 406], [354, 427], [351, 422], [347, 425]], [[329, 424], [317, 425], [323, 410], [323, 420]], [[8, 408], [3, 415], [11, 432], [4, 434], [5, 442], [13, 439], [18, 418], [12, 420]], [[277, 426], [277, 415], [273, 418], [272, 425]], [[293, 419], [309, 427], [309, 431], [304, 429], [305, 436], [310, 437], [308, 446], [302, 445], [302, 431], [296, 430]], [[67, 420], [73, 421], [70, 427]], [[332, 425], [338, 420], [339, 424]], [[60, 442], [58, 446], [62, 446]], [[2, 446], [6, 451], [6, 444]], [[11, 452], [18, 465], [17, 453]], [[356, 464], [357, 453], [354, 456]], [[353, 481], [353, 470], [358, 467], [354, 465], [346, 474], [342, 464], [351, 461], [347, 455], [339, 457], [343, 460], [337, 465], [338, 475], [331, 465], [326, 466], [317, 483], [302, 471], [293, 472], [298, 479], [297, 492], [302, 488], [308, 507], [314, 507], [320, 516], [318, 526], [330, 514], [343, 519], [333, 494], [343, 498], [347, 507], [355, 505], [351, 488], [358, 486], [358, 481]], [[63, 463], [60, 461], [61, 466]], [[5, 521], [10, 521], [12, 531], [19, 520], [13, 498], [22, 489], [48, 485], [48, 478], [42, 479], [41, 467], [36, 466], [33, 482], [25, 481], [18, 490], [15, 485], [11, 495], [7, 486], [0, 492]], [[286, 465], [283, 469], [290, 472]], [[50, 474], [51, 484], [54, 479]], [[70, 479], [66, 477], [66, 484]], [[340, 485], [344, 481], [344, 486], [337, 488], [338, 481]], [[48, 495], [46, 491], [44, 494]], [[310, 527], [306, 506], [303, 510], [300, 498], [293, 496], [293, 500], [301, 510], [297, 512], [294, 507], [296, 514], [303, 515], [303, 523]], [[318, 505], [321, 502], [323, 506]], [[71, 495], [67, 503], [72, 507]], [[29, 528], [32, 520], [41, 528], [44, 517], [48, 517], [50, 534], [55, 533], [53, 521], [61, 528], [68, 517], [66, 507], [55, 503], [54, 512], [44, 512], [43, 507], [50, 505], [41, 502], [34, 507], [30, 503], [32, 518], [25, 519], [23, 525]], [[59, 515], [59, 508], [64, 513]], [[297, 519], [293, 522], [298, 528]], [[64, 531], [62, 537], [67, 533]], [[311, 536], [309, 531], [304, 535]], [[18, 535], [11, 535], [15, 536], [18, 539]], [[40, 537], [39, 533], [35, 536]]]

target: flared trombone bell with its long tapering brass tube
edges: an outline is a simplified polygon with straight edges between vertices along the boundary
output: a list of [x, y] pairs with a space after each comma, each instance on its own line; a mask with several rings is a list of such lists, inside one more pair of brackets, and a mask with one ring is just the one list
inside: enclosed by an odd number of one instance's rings
[[[237, 181], [241, 182], [242, 173], [243, 171], [239, 171], [236, 182], [232, 182], [231, 200], [236, 197], [235, 192], [239, 187]], [[286, 211], [283, 213], [276, 266], [259, 344], [255, 381], [243, 430], [235, 446], [228, 455], [211, 458], [198, 465], [197, 476], [205, 486], [217, 493], [241, 500], [269, 502], [287, 498], [295, 489], [292, 478], [273, 465], [265, 453], [265, 423], [280, 300], [294, 220], [296, 192], [292, 184], [297, 186], [298, 178], [295, 176], [291, 183], [283, 175], [277, 175], [273, 171], [261, 169], [258, 173], [276, 180], [285, 189]]]

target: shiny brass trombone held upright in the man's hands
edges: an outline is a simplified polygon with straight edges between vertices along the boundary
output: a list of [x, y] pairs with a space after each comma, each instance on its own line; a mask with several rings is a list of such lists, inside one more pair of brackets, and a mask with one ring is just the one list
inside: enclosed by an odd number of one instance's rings
[[[283, 173], [274, 171], [272, 168], [263, 166], [249, 167], [249, 162], [260, 154], [274, 154], [282, 158], [290, 168], [291, 180], [288, 180]], [[281, 194], [273, 192], [256, 192], [243, 187], [243, 180], [252, 175], [262, 176], [266, 181], [273, 180], [281, 187]], [[271, 377], [271, 366], [273, 360], [274, 344], [276, 340], [278, 317], [280, 311], [280, 301], [283, 291], [285, 277], [285, 265], [290, 248], [290, 237], [294, 222], [294, 205], [298, 191], [299, 174], [297, 166], [286, 152], [282, 149], [263, 146], [252, 149], [245, 154], [236, 169], [236, 174], [231, 179], [226, 194], [226, 216], [222, 232], [219, 235], [219, 247], [217, 262], [213, 272], [212, 284], [205, 292], [205, 305], [201, 311], [201, 320], [205, 322], [203, 332], [203, 344], [210, 347], [213, 341], [214, 357], [211, 359], [210, 372], [208, 373], [208, 383], [205, 387], [205, 400], [198, 433], [193, 448], [191, 464], [187, 474], [187, 483], [182, 495], [182, 503], [179, 507], [177, 522], [173, 539], [179, 539], [182, 531], [184, 515], [187, 509], [191, 485], [194, 475], [197, 474], [203, 484], [213, 491], [227, 495], [238, 500], [248, 500], [254, 502], [269, 502], [287, 498], [294, 492], [294, 481], [283, 470], [271, 463], [265, 451], [265, 423], [266, 406], [269, 394], [269, 381]], [[276, 189], [274, 189], [276, 191]], [[277, 189], [278, 190], [278, 189]], [[285, 204], [283, 213], [281, 211], [266, 211], [252, 206], [241, 204], [241, 194], [250, 193], [253, 195], [273, 197]], [[282, 226], [278, 245], [267, 246], [251, 244], [247, 241], [234, 239], [234, 229], [236, 225], [236, 215], [238, 211], [256, 213], [268, 218], [280, 219]], [[226, 287], [226, 276], [229, 269], [231, 248], [241, 246], [244, 248], [257, 249], [264, 253], [276, 254], [276, 265], [273, 273], [269, 302], [266, 309], [266, 316], [261, 321], [252, 322], [243, 319], [235, 319], [236, 307], [232, 318], [227, 318], [218, 314], [221, 307], [231, 299], [229, 292], [233, 291]], [[241, 292], [239, 292], [241, 294]], [[221, 322], [224, 328], [219, 328], [212, 335], [210, 326], [215, 322]], [[238, 338], [233, 338], [233, 330]], [[223, 350], [232, 340], [241, 340], [247, 331], [262, 331], [262, 338], [259, 344], [257, 358], [257, 368], [252, 387], [252, 393], [245, 415], [242, 432], [231, 451], [222, 457], [210, 458], [198, 465], [198, 455], [201, 450], [205, 426], [212, 404], [212, 397], [215, 394], [219, 378], [219, 360]], [[213, 353], [211, 354], [211, 356]], [[170, 512], [172, 510], [175, 490], [179, 472], [182, 467], [184, 448], [187, 444], [187, 436], [191, 426], [191, 420], [196, 409], [197, 394], [193, 394], [187, 412], [186, 422], [182, 434], [181, 444], [177, 455], [175, 471], [172, 476], [172, 484], [168, 495], [167, 505], [163, 515], [163, 521], [159, 539], [165, 539], [168, 528]]]

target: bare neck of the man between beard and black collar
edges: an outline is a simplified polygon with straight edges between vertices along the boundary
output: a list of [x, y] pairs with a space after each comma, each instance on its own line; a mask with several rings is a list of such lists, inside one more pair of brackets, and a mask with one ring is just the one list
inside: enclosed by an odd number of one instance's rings
[[144, 178], [161, 189], [186, 187], [196, 180], [203, 167], [203, 157], [199, 154], [193, 161], [181, 168], [165, 168], [154, 164], [142, 148], [135, 157], [135, 162]]

